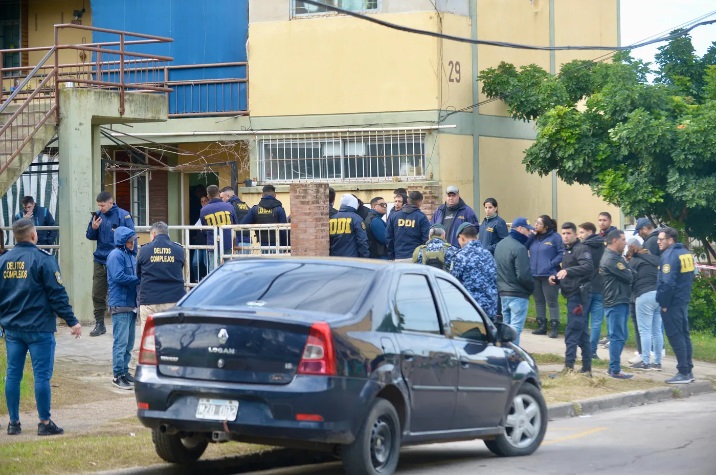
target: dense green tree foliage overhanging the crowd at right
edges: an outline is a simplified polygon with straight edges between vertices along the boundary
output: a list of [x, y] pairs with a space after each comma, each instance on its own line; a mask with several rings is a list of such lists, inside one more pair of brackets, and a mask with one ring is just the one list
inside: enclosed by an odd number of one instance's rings
[[713, 240], [716, 42], [699, 58], [685, 34], [659, 48], [655, 66], [624, 52], [610, 63], [572, 61], [556, 76], [501, 63], [478, 79], [513, 118], [536, 120], [527, 171], [556, 171], [626, 214]]

